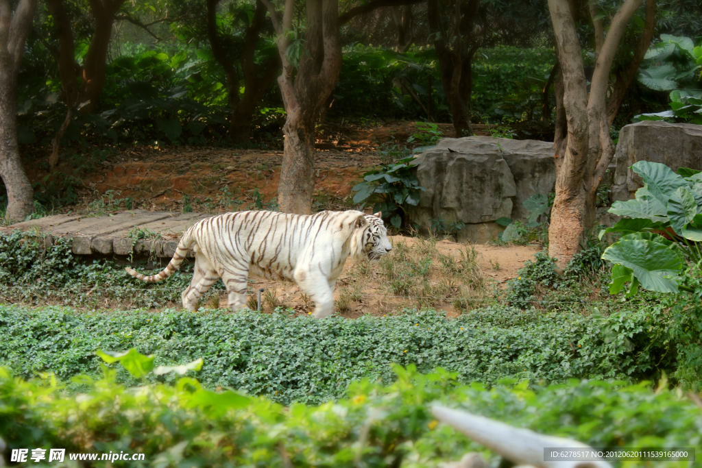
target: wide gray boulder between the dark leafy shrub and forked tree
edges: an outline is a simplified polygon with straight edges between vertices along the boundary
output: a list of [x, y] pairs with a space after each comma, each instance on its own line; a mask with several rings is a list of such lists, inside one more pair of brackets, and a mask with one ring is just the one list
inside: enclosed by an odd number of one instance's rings
[[503, 227], [499, 218], [525, 219], [522, 201], [548, 195], [555, 185], [553, 143], [475, 136], [444, 138], [417, 158], [425, 187], [413, 220], [427, 232], [432, 220], [465, 227], [458, 241], [486, 242]]

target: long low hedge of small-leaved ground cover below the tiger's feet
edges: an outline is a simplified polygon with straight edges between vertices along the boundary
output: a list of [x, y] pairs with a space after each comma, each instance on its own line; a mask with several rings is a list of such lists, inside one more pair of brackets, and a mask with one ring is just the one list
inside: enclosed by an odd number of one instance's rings
[[[227, 386], [279, 403], [322, 403], [350, 382], [395, 380], [391, 364], [422, 373], [441, 367], [461, 382], [494, 385], [503, 377], [548, 383], [569, 378], [656, 378], [668, 349], [662, 325], [645, 314], [607, 319], [492, 307], [447, 320], [437, 312], [355, 320], [210, 311], [93, 312], [0, 305], [0, 366], [61, 380], [98, 375], [96, 349], [136, 348], [172, 366], [202, 358], [210, 389]], [[667, 345], [666, 345], [667, 346]], [[117, 378], [136, 382], [124, 370]], [[173, 382], [173, 377], [150, 377]]]

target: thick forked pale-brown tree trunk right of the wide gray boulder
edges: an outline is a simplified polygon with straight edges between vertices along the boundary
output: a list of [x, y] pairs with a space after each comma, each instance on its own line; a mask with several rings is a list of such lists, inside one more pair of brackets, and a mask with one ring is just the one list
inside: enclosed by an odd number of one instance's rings
[[[568, 0], [548, 0], [554, 29], [560, 73], [556, 81], [557, 104], [562, 90], [562, 112], [567, 133], [558, 126], [555, 139], [556, 198], [548, 231], [549, 255], [565, 267], [581, 248], [595, 223], [597, 186], [614, 156], [607, 119], [609, 73], [625, 27], [642, 0], [626, 0], [614, 15], [607, 37], [597, 39], [597, 59], [590, 93], [574, 14]], [[590, 8], [596, 34], [604, 34], [597, 24], [596, 8]]]

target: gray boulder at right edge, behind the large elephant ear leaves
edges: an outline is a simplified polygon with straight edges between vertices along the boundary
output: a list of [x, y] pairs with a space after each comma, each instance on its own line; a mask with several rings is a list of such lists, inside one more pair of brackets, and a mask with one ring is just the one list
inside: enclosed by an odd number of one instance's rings
[[613, 200], [634, 198], [644, 182], [630, 167], [637, 161], [663, 163], [673, 171], [702, 171], [702, 126], [691, 123], [642, 121], [624, 126], [614, 156]]

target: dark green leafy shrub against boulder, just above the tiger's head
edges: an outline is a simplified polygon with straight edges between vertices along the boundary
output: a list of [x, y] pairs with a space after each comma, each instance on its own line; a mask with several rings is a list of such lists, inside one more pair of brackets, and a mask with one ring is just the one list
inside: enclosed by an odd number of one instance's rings
[[381, 164], [380, 169], [365, 173], [364, 182], [352, 189], [357, 192], [353, 197], [354, 203], [365, 206], [366, 200], [374, 196], [377, 200], [373, 206], [374, 212], [382, 212], [383, 218], [390, 218], [390, 223], [397, 229], [402, 226], [403, 220], [406, 224], [411, 207], [419, 203], [420, 190], [425, 190], [419, 186], [413, 160], [413, 157], [409, 157], [396, 163]]

